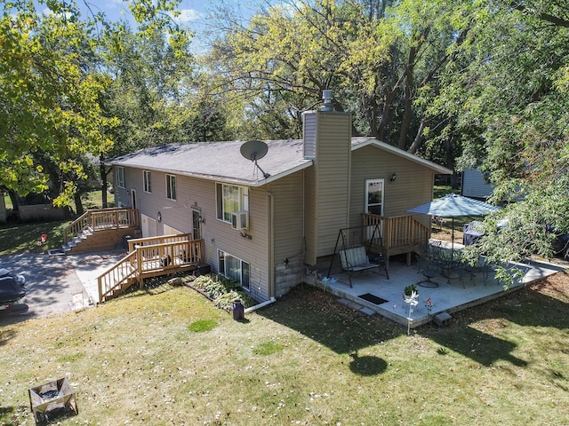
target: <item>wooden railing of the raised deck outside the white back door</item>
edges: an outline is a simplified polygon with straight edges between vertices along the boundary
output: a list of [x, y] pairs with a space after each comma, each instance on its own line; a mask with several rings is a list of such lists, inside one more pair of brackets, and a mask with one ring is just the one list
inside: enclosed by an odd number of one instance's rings
[[413, 216], [382, 217], [364, 214], [364, 225], [379, 225], [383, 245], [388, 252], [427, 244], [429, 228]]

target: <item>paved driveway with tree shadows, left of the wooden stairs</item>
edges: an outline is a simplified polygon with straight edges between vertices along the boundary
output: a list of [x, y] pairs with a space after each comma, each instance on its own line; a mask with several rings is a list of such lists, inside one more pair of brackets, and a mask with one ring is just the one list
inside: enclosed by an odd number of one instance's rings
[[21, 253], [0, 256], [0, 268], [26, 277], [28, 294], [0, 311], [0, 326], [69, 312], [97, 299], [96, 278], [124, 256], [124, 250], [67, 256]]

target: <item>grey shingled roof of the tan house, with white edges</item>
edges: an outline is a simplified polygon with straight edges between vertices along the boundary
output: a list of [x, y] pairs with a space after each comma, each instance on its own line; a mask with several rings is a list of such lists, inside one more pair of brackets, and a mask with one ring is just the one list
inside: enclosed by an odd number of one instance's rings
[[[178, 175], [220, 180], [242, 185], [260, 186], [306, 169], [312, 160], [303, 156], [302, 139], [266, 140], [268, 154], [254, 162], [240, 153], [243, 141], [198, 142], [151, 146], [131, 154], [105, 161], [108, 165], [156, 170]], [[352, 138], [352, 150], [376, 146], [406, 159], [420, 163], [437, 173], [450, 174], [451, 170], [408, 154], [373, 138]], [[265, 177], [264, 173], [269, 176]]]

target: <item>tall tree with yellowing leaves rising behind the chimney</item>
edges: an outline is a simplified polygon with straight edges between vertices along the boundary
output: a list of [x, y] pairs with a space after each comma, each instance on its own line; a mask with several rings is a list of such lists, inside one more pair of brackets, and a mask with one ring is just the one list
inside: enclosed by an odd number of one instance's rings
[[226, 24], [212, 63], [227, 78], [224, 89], [257, 112], [256, 122], [278, 107], [286, 114], [267, 122], [298, 132], [301, 111], [333, 89], [355, 113], [359, 133], [415, 153], [448, 120], [428, 116], [426, 107], [438, 74], [466, 40], [471, 8], [460, 0], [280, 3], [246, 26]]

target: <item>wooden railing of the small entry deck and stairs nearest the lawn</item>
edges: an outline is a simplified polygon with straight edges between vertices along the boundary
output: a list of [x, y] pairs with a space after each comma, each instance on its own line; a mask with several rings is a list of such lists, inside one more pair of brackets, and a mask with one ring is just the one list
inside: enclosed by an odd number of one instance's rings
[[98, 277], [100, 302], [141, 286], [145, 278], [196, 269], [204, 258], [204, 240], [191, 240], [190, 234], [135, 239], [129, 247], [127, 256]]

